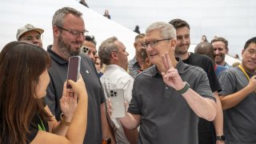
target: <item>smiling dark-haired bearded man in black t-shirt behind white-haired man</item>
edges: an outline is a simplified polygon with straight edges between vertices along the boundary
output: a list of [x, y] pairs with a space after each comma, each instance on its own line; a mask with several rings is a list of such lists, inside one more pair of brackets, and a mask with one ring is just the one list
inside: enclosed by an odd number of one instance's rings
[[[199, 144], [211, 144], [215, 143], [215, 133], [217, 136], [223, 135], [223, 113], [222, 104], [218, 98], [218, 91], [221, 87], [218, 82], [218, 78], [214, 72], [214, 65], [210, 58], [206, 55], [194, 54], [188, 52], [190, 47], [190, 25], [182, 19], [173, 19], [169, 22], [176, 29], [177, 34], [177, 46], [175, 48], [175, 57], [181, 58], [183, 62], [192, 66], [199, 66], [206, 71], [209, 78], [210, 88], [214, 93], [214, 97], [217, 102], [217, 116], [214, 118], [214, 122], [206, 121], [203, 118], [198, 122], [198, 140]], [[213, 126], [214, 124], [214, 126]], [[218, 141], [218, 143], [223, 143]]]

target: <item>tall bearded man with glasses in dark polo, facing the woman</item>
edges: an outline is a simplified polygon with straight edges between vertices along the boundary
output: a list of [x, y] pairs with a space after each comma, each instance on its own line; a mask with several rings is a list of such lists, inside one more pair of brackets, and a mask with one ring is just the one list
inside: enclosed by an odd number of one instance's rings
[[[60, 120], [59, 100], [62, 97], [62, 84], [66, 81], [68, 60], [78, 55], [88, 32], [82, 13], [70, 7], [63, 7], [55, 12], [52, 20], [54, 44], [47, 47], [52, 59], [49, 69], [50, 84], [46, 90], [46, 103], [57, 120]], [[80, 73], [86, 83], [88, 93], [88, 124], [84, 143], [102, 143], [106, 139], [107, 122], [105, 97], [98, 79], [94, 62], [85, 55], [81, 56]], [[86, 114], [86, 113], [85, 113]], [[65, 115], [64, 115], [65, 121]]]

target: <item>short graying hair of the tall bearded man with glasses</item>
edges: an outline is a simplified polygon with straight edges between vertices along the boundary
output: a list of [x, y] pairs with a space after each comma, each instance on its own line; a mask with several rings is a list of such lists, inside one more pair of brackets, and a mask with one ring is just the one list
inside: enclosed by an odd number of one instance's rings
[[55, 12], [53, 21], [52, 21], [52, 26], [62, 26], [63, 19], [66, 16], [66, 14], [74, 14], [78, 17], [82, 16], [82, 13], [80, 11], [75, 10], [72, 7], [62, 7], [61, 9]]

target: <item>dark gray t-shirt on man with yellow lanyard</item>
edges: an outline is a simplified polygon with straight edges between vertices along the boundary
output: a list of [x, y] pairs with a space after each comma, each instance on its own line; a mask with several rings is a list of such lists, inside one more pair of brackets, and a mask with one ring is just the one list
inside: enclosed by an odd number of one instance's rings
[[[252, 74], [248, 74], [252, 77]], [[219, 95], [234, 94], [248, 85], [248, 78], [237, 67], [230, 68], [219, 77], [222, 91]], [[238, 105], [223, 111], [224, 134], [228, 144], [252, 142], [256, 144], [256, 94], [250, 93]]]

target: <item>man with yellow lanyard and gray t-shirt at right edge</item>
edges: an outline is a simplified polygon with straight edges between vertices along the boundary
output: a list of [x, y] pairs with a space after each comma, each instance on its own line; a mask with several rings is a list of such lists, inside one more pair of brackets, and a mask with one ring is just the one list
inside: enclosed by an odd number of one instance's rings
[[220, 74], [226, 144], [256, 143], [256, 37], [242, 50], [242, 64]]

